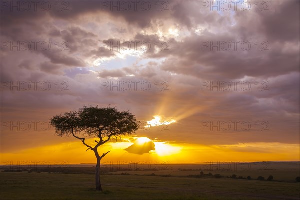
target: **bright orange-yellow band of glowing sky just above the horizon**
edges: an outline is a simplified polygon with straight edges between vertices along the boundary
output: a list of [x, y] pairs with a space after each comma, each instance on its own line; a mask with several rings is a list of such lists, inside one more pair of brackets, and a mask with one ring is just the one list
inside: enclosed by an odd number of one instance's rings
[[[149, 153], [134, 154], [127, 152], [126, 148], [134, 144], [133, 142], [122, 139], [123, 142], [108, 142], [101, 146], [99, 153], [108, 153], [103, 161], [168, 161], [169, 163], [196, 163], [204, 161], [289, 161], [299, 160], [300, 149], [298, 144], [283, 143], [238, 143], [232, 145], [202, 145], [202, 144], [176, 144], [168, 142], [152, 141], [147, 137], [135, 137], [136, 143], [153, 142], [155, 150]], [[94, 139], [88, 139], [88, 143]], [[95, 163], [95, 156], [91, 150], [85, 152], [86, 147], [79, 141], [72, 141], [50, 146], [24, 149], [16, 153], [1, 153], [1, 164], [17, 161], [48, 161], [54, 164], [67, 161], [69, 164]]]

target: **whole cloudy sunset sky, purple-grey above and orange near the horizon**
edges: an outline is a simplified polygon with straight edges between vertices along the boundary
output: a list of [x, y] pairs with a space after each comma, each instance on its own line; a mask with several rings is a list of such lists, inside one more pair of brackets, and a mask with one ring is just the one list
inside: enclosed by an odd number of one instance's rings
[[141, 123], [99, 148], [104, 161], [300, 160], [300, 1], [13, 2], [1, 1], [1, 164], [95, 163], [48, 128], [90, 105]]

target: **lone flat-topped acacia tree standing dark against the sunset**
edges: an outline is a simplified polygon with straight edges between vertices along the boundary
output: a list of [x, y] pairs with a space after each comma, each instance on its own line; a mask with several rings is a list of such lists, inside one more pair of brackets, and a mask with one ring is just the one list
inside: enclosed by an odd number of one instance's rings
[[[101, 159], [110, 151], [101, 156], [98, 147], [108, 142], [112, 137], [132, 134], [138, 129], [138, 121], [129, 111], [120, 112], [114, 107], [87, 107], [78, 111], [66, 112], [50, 119], [50, 124], [55, 127], [58, 136], [73, 136], [79, 139], [87, 150], [92, 150], [97, 158], [96, 164], [96, 190], [102, 191], [100, 182]], [[85, 137], [96, 137], [95, 145], [85, 142]], [[86, 150], [86, 151], [87, 151]]]

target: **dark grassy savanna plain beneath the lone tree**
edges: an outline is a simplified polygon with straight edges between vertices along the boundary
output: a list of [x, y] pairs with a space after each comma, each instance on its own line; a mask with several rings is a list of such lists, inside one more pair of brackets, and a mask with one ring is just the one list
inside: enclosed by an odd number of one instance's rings
[[[199, 176], [200, 171], [188, 167], [118, 171], [103, 174], [103, 192], [96, 192], [93, 174], [1, 172], [0, 199], [300, 199], [300, 183], [289, 178], [298, 174], [295, 170], [235, 172], [266, 178], [276, 174], [272, 181], [230, 178], [226, 175], [230, 171], [218, 173], [219, 178], [208, 176], [208, 171]], [[276, 180], [278, 176], [281, 180]]]

